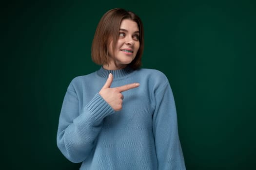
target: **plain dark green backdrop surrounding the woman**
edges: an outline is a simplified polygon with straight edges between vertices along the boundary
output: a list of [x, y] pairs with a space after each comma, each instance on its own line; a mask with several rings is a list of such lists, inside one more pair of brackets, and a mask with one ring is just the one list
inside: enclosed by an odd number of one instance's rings
[[70, 81], [99, 68], [100, 17], [123, 7], [145, 27], [143, 68], [172, 86], [187, 170], [256, 166], [256, 1], [8, 1], [1, 4], [1, 166], [78, 170], [56, 145]]

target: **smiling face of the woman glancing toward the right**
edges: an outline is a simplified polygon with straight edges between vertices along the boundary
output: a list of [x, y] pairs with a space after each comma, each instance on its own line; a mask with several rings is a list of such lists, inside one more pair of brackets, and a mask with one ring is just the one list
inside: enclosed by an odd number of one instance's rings
[[[112, 51], [113, 41], [108, 47], [111, 60], [103, 65], [105, 69], [121, 69], [130, 64], [139, 49], [139, 29], [138, 24], [130, 19], [122, 20], [119, 29], [119, 38], [116, 44], [116, 50]], [[115, 62], [116, 61], [116, 65]]]

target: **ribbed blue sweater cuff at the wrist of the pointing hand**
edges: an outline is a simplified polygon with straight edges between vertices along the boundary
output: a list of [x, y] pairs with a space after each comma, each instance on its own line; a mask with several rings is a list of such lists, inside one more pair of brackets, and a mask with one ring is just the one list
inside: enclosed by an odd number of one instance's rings
[[102, 120], [115, 110], [97, 93], [86, 106], [96, 120]]

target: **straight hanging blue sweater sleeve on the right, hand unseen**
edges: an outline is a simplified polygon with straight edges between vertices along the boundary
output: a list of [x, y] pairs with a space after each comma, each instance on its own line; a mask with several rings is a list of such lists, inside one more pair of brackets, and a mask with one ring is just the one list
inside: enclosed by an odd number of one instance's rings
[[155, 93], [156, 110], [153, 116], [158, 170], [186, 170], [177, 129], [177, 113], [169, 82]]

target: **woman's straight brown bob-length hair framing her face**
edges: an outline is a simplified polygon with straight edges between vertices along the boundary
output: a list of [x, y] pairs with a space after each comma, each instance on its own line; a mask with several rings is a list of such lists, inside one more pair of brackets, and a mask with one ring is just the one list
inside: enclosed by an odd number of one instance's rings
[[141, 19], [133, 12], [122, 8], [107, 11], [100, 19], [92, 42], [91, 56], [94, 63], [98, 65], [108, 64], [108, 46], [113, 40], [113, 51], [119, 38], [119, 28], [123, 19], [131, 19], [138, 24], [139, 49], [135, 59], [128, 65], [130, 68], [138, 69], [141, 66], [141, 57], [144, 50], [144, 29]]

